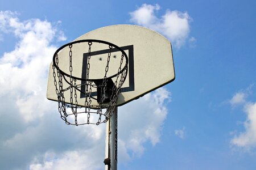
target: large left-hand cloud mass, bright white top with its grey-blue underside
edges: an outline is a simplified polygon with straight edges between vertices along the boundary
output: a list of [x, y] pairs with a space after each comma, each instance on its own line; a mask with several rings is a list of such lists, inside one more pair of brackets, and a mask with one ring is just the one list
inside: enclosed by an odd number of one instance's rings
[[[20, 21], [16, 12], [11, 11], [0, 11], [0, 21], [0, 34], [14, 35], [18, 40], [13, 51], [0, 56], [0, 124], [6, 127], [1, 129], [0, 137], [1, 168], [22, 169], [35, 155], [49, 148], [61, 153], [74, 146], [85, 147], [77, 146], [84, 138], [99, 141], [99, 136], [104, 136], [101, 127], [82, 130], [67, 130], [65, 124], [55, 127], [60, 118], [56, 103], [46, 99], [46, 86], [49, 63], [56, 50], [52, 44], [65, 40], [64, 33], [47, 20]], [[70, 134], [76, 137], [69, 139]], [[83, 142], [92, 146], [88, 141]]]

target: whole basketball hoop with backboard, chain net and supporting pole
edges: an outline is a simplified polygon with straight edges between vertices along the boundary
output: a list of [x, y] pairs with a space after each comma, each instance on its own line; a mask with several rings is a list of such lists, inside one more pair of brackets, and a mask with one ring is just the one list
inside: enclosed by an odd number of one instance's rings
[[118, 107], [174, 79], [172, 46], [166, 37], [138, 25], [109, 25], [56, 50], [47, 99], [57, 101], [68, 125], [106, 122], [105, 169], [116, 170]]

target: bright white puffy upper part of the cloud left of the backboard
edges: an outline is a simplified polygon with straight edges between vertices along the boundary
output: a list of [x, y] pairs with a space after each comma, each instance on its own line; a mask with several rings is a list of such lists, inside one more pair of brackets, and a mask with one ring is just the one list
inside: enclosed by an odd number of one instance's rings
[[65, 36], [46, 20], [20, 22], [15, 14], [0, 12], [1, 30], [14, 32], [19, 39], [15, 49], [0, 58], [0, 95], [11, 95], [20, 114], [29, 122], [49, 109], [45, 97], [47, 71], [56, 50], [50, 43], [59, 35], [62, 40]]

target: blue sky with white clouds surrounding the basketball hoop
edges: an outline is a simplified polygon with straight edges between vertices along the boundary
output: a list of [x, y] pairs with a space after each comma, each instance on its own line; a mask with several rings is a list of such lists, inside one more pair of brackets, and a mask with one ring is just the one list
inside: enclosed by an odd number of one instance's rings
[[166, 36], [176, 73], [174, 82], [119, 108], [118, 168], [255, 169], [255, 6], [1, 1], [0, 169], [104, 168], [105, 126], [65, 125], [46, 87], [59, 46], [113, 24]]

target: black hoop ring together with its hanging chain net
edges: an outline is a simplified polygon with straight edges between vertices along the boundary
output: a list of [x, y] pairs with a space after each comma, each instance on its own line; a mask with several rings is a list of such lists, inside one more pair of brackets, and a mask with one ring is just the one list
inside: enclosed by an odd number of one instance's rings
[[[94, 46], [97, 47], [97, 50], [99, 48], [108, 50], [107, 55], [98, 58], [98, 62], [91, 62]], [[88, 50], [86, 53], [77, 54], [76, 49]], [[58, 55], [60, 52], [62, 53], [61, 57]], [[63, 53], [67, 54], [63, 55]], [[63, 65], [62, 63], [67, 63], [67, 60], [69, 66]], [[112, 68], [113, 65], [110, 64], [112, 60], [114, 60], [115, 66], [118, 63], [118, 67]], [[86, 63], [84, 70], [82, 70], [84, 77], [76, 75], [73, 71], [76, 68], [76, 63], [81, 61]], [[102, 67], [94, 67], [98, 63]], [[91, 76], [92, 69], [97, 72], [98, 77], [93, 78]], [[128, 57], [124, 50], [110, 42], [93, 39], [78, 40], [65, 44], [56, 50], [53, 55], [52, 70], [58, 110], [66, 124], [76, 126], [99, 125], [108, 121], [113, 114], [121, 87], [126, 79]], [[84, 96], [84, 105], [77, 102], [78, 95]]]

